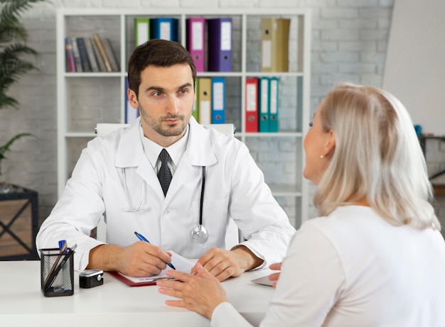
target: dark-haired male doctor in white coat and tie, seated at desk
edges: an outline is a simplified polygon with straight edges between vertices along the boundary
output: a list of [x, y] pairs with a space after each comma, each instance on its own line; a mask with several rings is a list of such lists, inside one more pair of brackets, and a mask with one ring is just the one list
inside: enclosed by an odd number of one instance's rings
[[[130, 57], [128, 79], [140, 118], [88, 143], [37, 248], [65, 239], [77, 244], [75, 269], [135, 277], [164, 270], [166, 250], [199, 259], [220, 281], [280, 262], [295, 230], [247, 147], [191, 117], [196, 70], [189, 52], [149, 40]], [[107, 243], [90, 238], [102, 214]], [[225, 250], [230, 217], [247, 241]]]

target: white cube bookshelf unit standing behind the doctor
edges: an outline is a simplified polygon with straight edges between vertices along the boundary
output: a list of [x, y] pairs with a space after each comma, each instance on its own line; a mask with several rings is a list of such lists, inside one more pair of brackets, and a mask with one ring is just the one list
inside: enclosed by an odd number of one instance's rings
[[[232, 18], [232, 70], [198, 72], [198, 77], [226, 80], [225, 121], [236, 126], [235, 137], [247, 145], [272, 193], [297, 228], [309, 215], [309, 182], [304, 168], [303, 138], [309, 128], [311, 77], [311, 12], [309, 9], [58, 9], [57, 106], [58, 195], [96, 123], [123, 123], [127, 60], [134, 50], [134, 19], [178, 19], [179, 42], [186, 46], [186, 19]], [[261, 72], [262, 18], [289, 18], [289, 71]], [[118, 72], [67, 72], [65, 37], [109, 38]], [[279, 131], [245, 131], [245, 82], [250, 77], [279, 79]], [[278, 166], [278, 167], [277, 167]], [[279, 171], [275, 173], [274, 171]]]

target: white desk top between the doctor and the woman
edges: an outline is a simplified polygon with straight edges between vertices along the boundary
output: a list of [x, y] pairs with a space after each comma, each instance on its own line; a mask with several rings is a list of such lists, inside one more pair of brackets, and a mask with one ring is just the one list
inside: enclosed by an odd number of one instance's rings
[[[223, 282], [228, 300], [256, 325], [274, 289], [250, 281], [269, 272], [245, 272]], [[157, 286], [129, 287], [107, 273], [103, 285], [80, 289], [75, 272], [72, 296], [45, 297], [40, 285], [40, 261], [0, 262], [1, 326], [210, 326], [194, 312], [166, 306], [168, 296], [159, 294]]]

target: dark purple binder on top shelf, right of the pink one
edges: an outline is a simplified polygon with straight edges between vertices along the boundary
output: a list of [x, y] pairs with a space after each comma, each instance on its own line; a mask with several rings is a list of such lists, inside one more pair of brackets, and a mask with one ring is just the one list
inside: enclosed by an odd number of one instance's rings
[[208, 71], [232, 71], [232, 18], [207, 20]]

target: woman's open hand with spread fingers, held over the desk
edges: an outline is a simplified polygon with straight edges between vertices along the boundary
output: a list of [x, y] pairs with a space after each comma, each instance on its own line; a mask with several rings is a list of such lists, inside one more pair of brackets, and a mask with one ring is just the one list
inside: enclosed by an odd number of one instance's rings
[[168, 276], [179, 281], [161, 279], [156, 284], [159, 293], [176, 297], [179, 300], [166, 300], [168, 306], [186, 308], [204, 316], [212, 318], [213, 311], [227, 301], [225, 290], [218, 279], [205, 270], [199, 263], [195, 266], [195, 275], [177, 270], [167, 270]]

